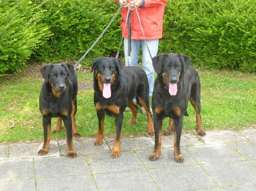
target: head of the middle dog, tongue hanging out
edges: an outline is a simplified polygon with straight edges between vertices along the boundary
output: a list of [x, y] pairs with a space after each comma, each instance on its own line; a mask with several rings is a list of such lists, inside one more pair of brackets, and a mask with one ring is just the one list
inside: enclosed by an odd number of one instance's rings
[[123, 61], [117, 58], [97, 57], [92, 60], [92, 70], [97, 85], [105, 98], [111, 97], [110, 86], [119, 78]]

